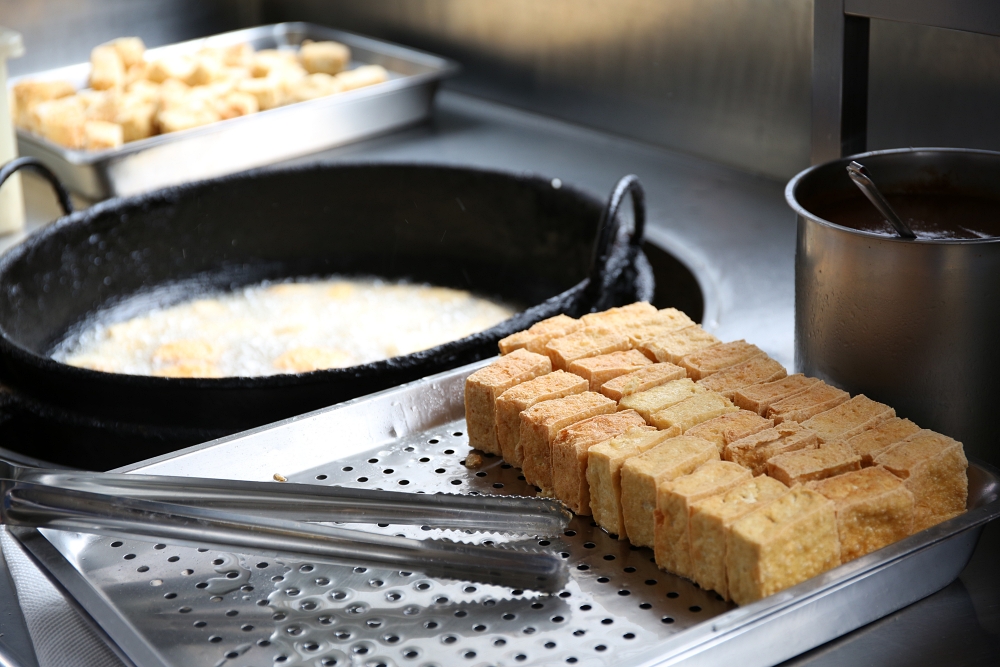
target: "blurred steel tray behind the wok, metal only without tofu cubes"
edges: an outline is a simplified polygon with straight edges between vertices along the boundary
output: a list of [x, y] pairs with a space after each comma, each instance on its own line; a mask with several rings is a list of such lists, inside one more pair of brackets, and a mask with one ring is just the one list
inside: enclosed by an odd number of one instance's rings
[[[147, 57], [193, 53], [206, 46], [249, 42], [257, 50], [293, 48], [303, 40], [351, 47], [358, 65], [382, 65], [389, 80], [308, 102], [261, 111], [182, 132], [161, 134], [106, 151], [64, 148], [17, 130], [21, 155], [45, 162], [71, 190], [89, 199], [130, 195], [231, 174], [350, 143], [419, 122], [430, 115], [438, 83], [458, 71], [450, 60], [311, 23], [279, 23], [150, 49]], [[11, 79], [65, 79], [87, 87], [90, 63]]]

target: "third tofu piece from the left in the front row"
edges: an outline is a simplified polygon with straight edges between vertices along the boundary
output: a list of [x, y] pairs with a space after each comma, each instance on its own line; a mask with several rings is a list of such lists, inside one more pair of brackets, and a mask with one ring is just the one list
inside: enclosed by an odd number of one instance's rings
[[[529, 353], [530, 354], [530, 353]], [[510, 356], [510, 355], [507, 355]], [[615, 412], [615, 402], [592, 391], [536, 403], [521, 413], [521, 470], [528, 484], [552, 496], [552, 441], [570, 424]]]

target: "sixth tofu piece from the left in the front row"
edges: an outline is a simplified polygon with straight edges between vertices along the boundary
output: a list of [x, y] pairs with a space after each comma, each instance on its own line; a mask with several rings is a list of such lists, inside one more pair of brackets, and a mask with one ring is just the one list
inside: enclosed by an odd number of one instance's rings
[[670, 438], [649, 451], [626, 459], [621, 469], [622, 525], [637, 547], [652, 547], [656, 488], [687, 475], [709, 461], [719, 460], [719, 450], [708, 440], [686, 435]]

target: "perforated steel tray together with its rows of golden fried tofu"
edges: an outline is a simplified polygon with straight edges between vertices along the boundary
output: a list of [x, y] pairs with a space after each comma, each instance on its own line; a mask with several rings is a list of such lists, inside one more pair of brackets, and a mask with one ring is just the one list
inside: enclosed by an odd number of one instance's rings
[[[775, 379], [783, 372], [759, 350], [721, 343], [677, 311], [626, 308], [608, 317], [635, 312], [648, 321], [625, 327], [625, 340], [620, 322], [559, 316], [507, 339], [498, 359], [123, 470], [528, 496], [540, 492], [534, 481], [576, 512], [563, 535], [527, 542], [563, 557], [569, 583], [560, 591], [53, 530], [25, 543], [140, 667], [774, 665], [959, 575], [982, 527], [1000, 514], [994, 468], [975, 461], [966, 468], [959, 443], [873, 401], [801, 376]], [[671, 354], [677, 363], [665, 360]], [[557, 431], [537, 428], [539, 419], [558, 421], [566, 406], [582, 418]], [[484, 428], [484, 411], [501, 428]], [[518, 465], [509, 461], [517, 454], [504, 426], [512, 413], [524, 425]], [[776, 427], [758, 428], [775, 419]], [[527, 457], [538, 458], [533, 448], [546, 441], [550, 477], [541, 479], [540, 464]], [[567, 448], [573, 456], [555, 458]], [[586, 467], [580, 452], [591, 455]], [[796, 452], [813, 455], [790, 456]], [[630, 516], [632, 501], [621, 495], [624, 522], [622, 512], [607, 511], [601, 487], [614, 477], [606, 470], [616, 457], [619, 472], [634, 473], [619, 475], [619, 494], [659, 466], [650, 517]], [[642, 457], [642, 465], [628, 463]], [[949, 476], [956, 466], [961, 480]], [[945, 480], [937, 495], [928, 490], [934, 479]], [[636, 488], [641, 495], [643, 485]], [[966, 499], [962, 508], [948, 505], [956, 494]], [[760, 506], [741, 510], [748, 498]], [[664, 520], [677, 507], [686, 529]], [[851, 522], [875, 537], [852, 540]], [[504, 534], [357, 527], [526, 543]], [[722, 535], [722, 556], [704, 539], [713, 534]]]

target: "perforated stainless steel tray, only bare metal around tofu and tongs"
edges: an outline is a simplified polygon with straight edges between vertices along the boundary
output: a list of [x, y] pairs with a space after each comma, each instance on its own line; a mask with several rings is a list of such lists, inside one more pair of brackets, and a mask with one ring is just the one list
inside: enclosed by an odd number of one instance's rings
[[[485, 362], [484, 362], [485, 363]], [[126, 471], [529, 494], [499, 458], [470, 470], [466, 376], [448, 371], [152, 459]], [[998, 473], [969, 468], [970, 511], [736, 608], [659, 571], [652, 552], [576, 517], [566, 589], [542, 596], [416, 572], [277, 562], [46, 531], [22, 541], [139, 667], [154, 665], [773, 665], [904, 607], [958, 576], [1000, 513]], [[368, 526], [412, 536], [420, 527]], [[449, 533], [500, 541], [500, 535]]]

